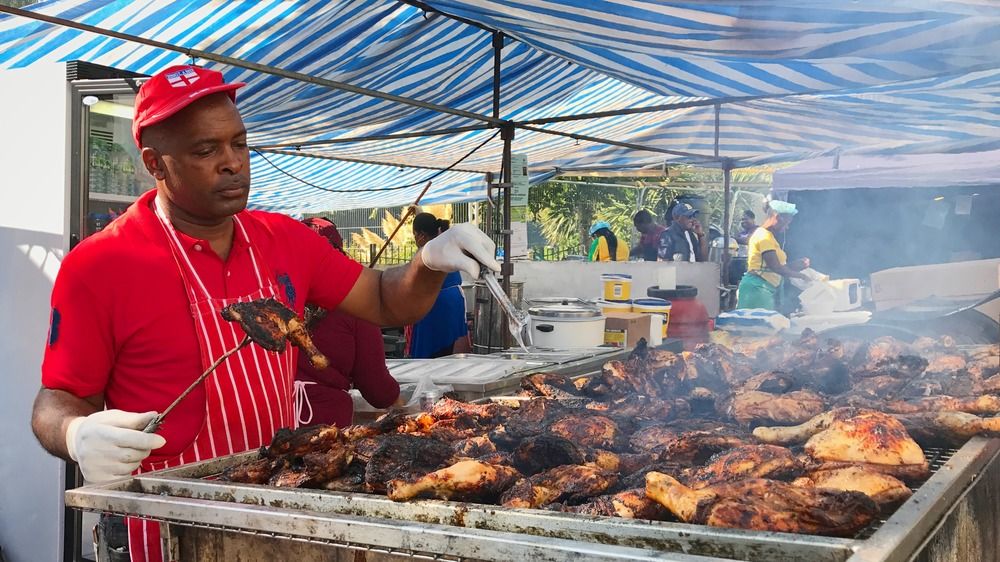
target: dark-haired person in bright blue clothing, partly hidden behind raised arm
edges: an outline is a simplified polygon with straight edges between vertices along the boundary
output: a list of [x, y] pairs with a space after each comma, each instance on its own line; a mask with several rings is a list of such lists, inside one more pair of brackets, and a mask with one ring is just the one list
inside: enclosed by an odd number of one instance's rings
[[[413, 217], [413, 239], [418, 248], [448, 231], [451, 223], [431, 213]], [[413, 359], [433, 359], [472, 351], [469, 325], [465, 321], [465, 294], [462, 276], [449, 273], [434, 306], [407, 330], [407, 354]]]

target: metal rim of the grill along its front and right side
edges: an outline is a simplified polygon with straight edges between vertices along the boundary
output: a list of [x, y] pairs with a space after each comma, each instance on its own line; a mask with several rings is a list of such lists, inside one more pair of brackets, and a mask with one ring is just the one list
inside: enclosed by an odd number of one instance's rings
[[[71, 507], [322, 544], [479, 560], [910, 560], [956, 503], [1000, 477], [1000, 440], [974, 438], [867, 538], [840, 539], [492, 505], [272, 488], [212, 478], [256, 452], [66, 492]], [[964, 505], [964, 503], [963, 503]], [[995, 511], [995, 510], [994, 510]], [[996, 519], [972, 523], [995, 535]]]

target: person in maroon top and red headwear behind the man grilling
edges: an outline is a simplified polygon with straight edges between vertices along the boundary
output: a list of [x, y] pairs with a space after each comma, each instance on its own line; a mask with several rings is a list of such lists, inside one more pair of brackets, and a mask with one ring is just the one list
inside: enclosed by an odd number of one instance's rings
[[[337, 225], [324, 218], [302, 221], [341, 253], [344, 242]], [[345, 254], [346, 255], [346, 254]], [[316, 318], [311, 326], [313, 343], [330, 360], [330, 367], [317, 369], [305, 354], [299, 354], [295, 373], [298, 423], [351, 425], [354, 403], [348, 391], [358, 389], [376, 408], [388, 408], [399, 398], [399, 383], [385, 366], [382, 330], [336, 310], [308, 306]]]

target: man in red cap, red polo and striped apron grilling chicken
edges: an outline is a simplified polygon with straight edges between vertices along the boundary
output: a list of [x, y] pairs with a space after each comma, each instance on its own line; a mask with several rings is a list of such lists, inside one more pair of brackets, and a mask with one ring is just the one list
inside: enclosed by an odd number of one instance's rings
[[[191, 65], [143, 84], [133, 134], [156, 188], [61, 264], [32, 428], [89, 482], [255, 449], [294, 425], [294, 348], [250, 345], [157, 433], [142, 431], [239, 343], [242, 331], [221, 320], [222, 307], [277, 298], [301, 314], [308, 301], [398, 326], [427, 312], [447, 273], [499, 269], [494, 244], [472, 225], [379, 272], [298, 221], [247, 211], [250, 154], [235, 105], [242, 86]], [[158, 535], [157, 525], [130, 520], [132, 560], [161, 560]]]

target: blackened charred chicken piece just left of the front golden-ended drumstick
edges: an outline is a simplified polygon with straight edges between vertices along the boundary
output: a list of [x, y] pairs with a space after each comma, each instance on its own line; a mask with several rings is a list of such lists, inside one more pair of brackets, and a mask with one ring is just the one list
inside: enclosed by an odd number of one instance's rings
[[384, 492], [390, 480], [411, 480], [451, 464], [454, 453], [448, 443], [418, 435], [380, 436], [379, 447], [365, 468], [365, 487]]

